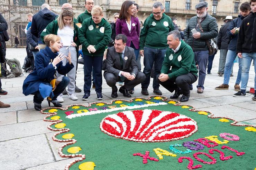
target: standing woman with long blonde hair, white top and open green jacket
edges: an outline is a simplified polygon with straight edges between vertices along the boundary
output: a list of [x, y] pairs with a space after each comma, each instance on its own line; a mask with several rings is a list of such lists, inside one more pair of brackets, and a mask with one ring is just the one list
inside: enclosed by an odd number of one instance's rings
[[[65, 56], [68, 53], [71, 54], [72, 63], [76, 63], [77, 60], [77, 51], [76, 47], [80, 45], [78, 40], [78, 30], [79, 28], [74, 23], [74, 12], [70, 8], [64, 8], [61, 11], [60, 16], [49, 23], [47, 27], [41, 33], [41, 39], [44, 39], [44, 36], [48, 34], [55, 34], [61, 38], [62, 48], [60, 49], [60, 53], [63, 53]], [[66, 59], [63, 61], [63, 66], [68, 62]], [[74, 64], [74, 68], [67, 73], [67, 77], [70, 79], [70, 82], [67, 86], [67, 94], [68, 98], [71, 100], [77, 100], [75, 96], [75, 74], [76, 74], [76, 64]], [[63, 75], [57, 73], [57, 80], [61, 81]], [[57, 97], [58, 102], [63, 102], [62, 93]]]

